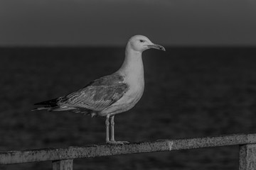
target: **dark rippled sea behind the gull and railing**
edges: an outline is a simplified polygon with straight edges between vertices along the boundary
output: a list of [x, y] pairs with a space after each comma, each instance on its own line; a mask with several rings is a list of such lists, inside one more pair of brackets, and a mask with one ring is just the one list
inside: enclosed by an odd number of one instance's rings
[[[105, 119], [31, 112], [122, 64], [124, 48], [0, 48], [0, 150], [105, 142]], [[115, 117], [130, 142], [256, 132], [256, 48], [169, 47], [143, 53], [145, 91]], [[51, 162], [0, 169], [51, 169]], [[238, 169], [238, 146], [75, 159], [74, 169]]]

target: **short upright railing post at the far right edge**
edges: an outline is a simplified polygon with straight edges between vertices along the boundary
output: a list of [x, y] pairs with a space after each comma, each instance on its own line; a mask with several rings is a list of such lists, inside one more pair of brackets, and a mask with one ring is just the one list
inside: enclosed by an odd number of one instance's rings
[[239, 145], [239, 170], [256, 169], [256, 144]]

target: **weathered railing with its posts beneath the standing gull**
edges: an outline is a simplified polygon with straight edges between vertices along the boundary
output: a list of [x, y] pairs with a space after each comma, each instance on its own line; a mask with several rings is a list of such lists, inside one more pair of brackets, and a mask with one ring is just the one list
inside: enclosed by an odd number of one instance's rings
[[157, 140], [128, 145], [88, 145], [56, 149], [33, 149], [0, 152], [0, 164], [52, 161], [53, 170], [72, 170], [73, 159], [105, 157], [118, 154], [164, 152], [180, 149], [239, 145], [239, 169], [256, 169], [256, 134], [221, 135], [181, 140]]

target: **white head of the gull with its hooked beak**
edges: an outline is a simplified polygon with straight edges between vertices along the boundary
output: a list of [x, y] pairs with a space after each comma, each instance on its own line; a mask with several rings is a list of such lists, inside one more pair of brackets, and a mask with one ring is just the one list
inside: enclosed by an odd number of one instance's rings
[[150, 48], [165, 51], [163, 46], [154, 44], [153, 42], [151, 42], [151, 40], [149, 40], [149, 38], [146, 38], [144, 35], [134, 35], [132, 38], [129, 39], [127, 46], [137, 52], [144, 52], [144, 50], [148, 50]]

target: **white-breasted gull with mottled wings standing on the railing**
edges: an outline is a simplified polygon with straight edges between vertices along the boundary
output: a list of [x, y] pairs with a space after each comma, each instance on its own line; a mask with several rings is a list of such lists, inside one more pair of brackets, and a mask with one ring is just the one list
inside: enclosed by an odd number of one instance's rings
[[[114, 115], [133, 108], [144, 91], [144, 67], [142, 52], [154, 48], [165, 51], [144, 35], [134, 35], [127, 42], [122, 66], [113, 74], [100, 77], [82, 89], [49, 101], [35, 103], [41, 107], [31, 111], [71, 111], [106, 117], [106, 143], [125, 144], [114, 140]], [[111, 138], [109, 127], [111, 125]]]

